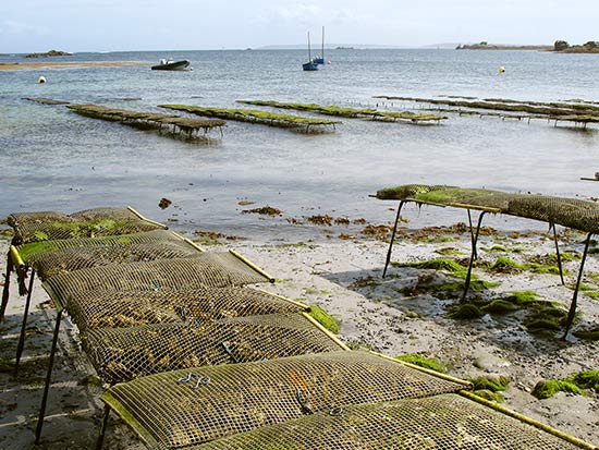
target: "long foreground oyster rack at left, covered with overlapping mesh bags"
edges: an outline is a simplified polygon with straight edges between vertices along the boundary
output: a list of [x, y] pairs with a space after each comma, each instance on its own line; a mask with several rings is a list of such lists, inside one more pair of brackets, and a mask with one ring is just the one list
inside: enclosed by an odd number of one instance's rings
[[205, 252], [140, 216], [151, 230], [48, 234], [130, 212], [10, 217], [7, 301], [11, 272], [30, 269], [24, 324], [36, 271], [57, 311], [36, 443], [68, 313], [109, 385], [97, 448], [113, 411], [157, 449], [595, 449], [472, 396], [467, 381], [351, 351], [309, 306], [245, 287], [274, 279], [233, 251]]

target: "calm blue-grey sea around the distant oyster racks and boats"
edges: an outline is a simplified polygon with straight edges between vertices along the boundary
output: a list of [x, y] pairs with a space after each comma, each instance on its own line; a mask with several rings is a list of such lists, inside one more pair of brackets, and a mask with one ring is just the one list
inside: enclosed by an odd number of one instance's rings
[[[599, 125], [448, 114], [440, 124], [340, 119], [305, 134], [228, 121], [215, 141], [190, 143], [77, 115], [25, 97], [161, 111], [160, 104], [244, 108], [262, 99], [425, 112], [426, 104], [375, 96], [462, 96], [599, 101], [599, 57], [541, 51], [331, 49], [330, 64], [304, 72], [303, 50], [75, 53], [54, 61], [143, 61], [143, 65], [0, 71], [0, 217], [131, 205], [180, 231], [298, 240], [308, 217], [389, 224], [396, 202], [372, 198], [400, 184], [450, 184], [592, 199]], [[161, 58], [192, 71], [152, 71]], [[1, 62], [40, 62], [2, 56]], [[504, 68], [501, 73], [499, 68]], [[39, 84], [45, 76], [47, 83]], [[268, 108], [265, 108], [268, 109]], [[310, 115], [309, 113], [282, 111]], [[432, 111], [435, 112], [435, 111]], [[329, 118], [330, 119], [330, 118]], [[161, 209], [161, 198], [172, 202]], [[280, 216], [244, 210], [270, 206]], [[464, 210], [405, 208], [406, 227], [466, 221]], [[494, 216], [499, 229], [546, 223]], [[314, 231], [311, 231], [314, 232]], [[308, 236], [309, 238], [309, 236]]]

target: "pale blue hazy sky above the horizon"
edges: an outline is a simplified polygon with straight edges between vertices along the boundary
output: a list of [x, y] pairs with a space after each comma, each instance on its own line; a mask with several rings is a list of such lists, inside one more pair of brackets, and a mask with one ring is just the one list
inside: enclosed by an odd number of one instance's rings
[[0, 0], [0, 53], [599, 40], [597, 0]]

